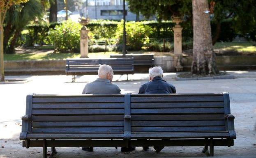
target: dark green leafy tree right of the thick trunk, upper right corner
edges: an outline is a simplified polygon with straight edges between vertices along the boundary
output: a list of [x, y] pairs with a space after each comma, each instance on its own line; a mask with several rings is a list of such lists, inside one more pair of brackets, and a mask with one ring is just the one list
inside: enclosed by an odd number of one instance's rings
[[256, 3], [255, 0], [212, 0], [214, 12], [212, 23], [216, 24], [212, 37], [214, 45], [221, 33], [221, 23], [231, 21], [236, 32], [246, 34], [255, 28]]

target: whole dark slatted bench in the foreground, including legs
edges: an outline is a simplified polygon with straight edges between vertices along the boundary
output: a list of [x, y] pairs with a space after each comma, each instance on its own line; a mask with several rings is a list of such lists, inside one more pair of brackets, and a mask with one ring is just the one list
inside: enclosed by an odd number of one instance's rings
[[[23, 147], [233, 146], [229, 94], [28, 95]], [[96, 151], [97, 152], [97, 151]]]

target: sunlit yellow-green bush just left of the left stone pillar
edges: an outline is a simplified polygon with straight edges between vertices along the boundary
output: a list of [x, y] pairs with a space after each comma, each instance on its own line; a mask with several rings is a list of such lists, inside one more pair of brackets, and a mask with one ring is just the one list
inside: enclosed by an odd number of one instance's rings
[[54, 50], [60, 53], [80, 52], [80, 30], [82, 26], [70, 20], [49, 30]]

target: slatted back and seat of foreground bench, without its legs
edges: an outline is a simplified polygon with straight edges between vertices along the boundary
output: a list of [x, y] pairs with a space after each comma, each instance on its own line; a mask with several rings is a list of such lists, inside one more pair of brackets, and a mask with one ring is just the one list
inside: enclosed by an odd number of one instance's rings
[[28, 95], [26, 106], [30, 121], [23, 122], [24, 133], [235, 138], [232, 120], [225, 119], [230, 114], [226, 93]]

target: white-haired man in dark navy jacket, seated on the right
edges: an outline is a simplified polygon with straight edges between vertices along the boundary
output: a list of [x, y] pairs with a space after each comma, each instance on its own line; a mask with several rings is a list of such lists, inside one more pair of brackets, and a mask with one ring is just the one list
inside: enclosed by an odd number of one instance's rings
[[[141, 85], [139, 94], [171, 94], [176, 93], [176, 89], [173, 85], [163, 80], [164, 71], [160, 66], [155, 66], [149, 69], [149, 79], [147, 82]], [[160, 152], [164, 147], [154, 147], [156, 152]], [[144, 151], [148, 150], [148, 147], [143, 147]]]

